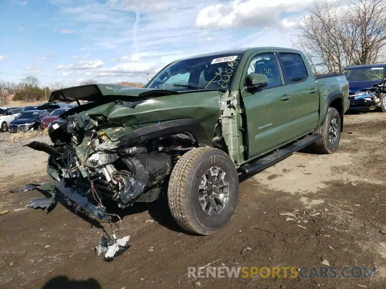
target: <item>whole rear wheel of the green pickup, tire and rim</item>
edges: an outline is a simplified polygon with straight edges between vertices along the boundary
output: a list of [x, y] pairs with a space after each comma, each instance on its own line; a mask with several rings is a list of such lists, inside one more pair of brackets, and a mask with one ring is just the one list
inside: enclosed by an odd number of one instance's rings
[[313, 149], [321, 154], [334, 153], [339, 146], [341, 131], [340, 115], [337, 109], [328, 108], [323, 125], [314, 132], [314, 134], [322, 134], [322, 138], [312, 144]]

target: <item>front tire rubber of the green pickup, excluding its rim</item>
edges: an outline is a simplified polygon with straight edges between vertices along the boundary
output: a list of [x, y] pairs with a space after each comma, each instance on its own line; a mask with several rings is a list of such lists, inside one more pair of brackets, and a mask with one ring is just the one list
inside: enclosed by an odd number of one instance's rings
[[[229, 198], [223, 210], [215, 216], [206, 215], [198, 201], [201, 176], [211, 167], [225, 172], [229, 182]], [[239, 177], [230, 157], [216, 148], [194, 148], [179, 158], [170, 175], [168, 204], [171, 215], [183, 229], [200, 235], [220, 230], [232, 217], [239, 195]]]

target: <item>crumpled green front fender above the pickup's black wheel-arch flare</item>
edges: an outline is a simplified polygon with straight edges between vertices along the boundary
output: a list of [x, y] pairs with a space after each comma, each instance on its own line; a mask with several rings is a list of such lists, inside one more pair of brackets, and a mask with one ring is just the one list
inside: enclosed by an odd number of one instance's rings
[[[135, 89], [134, 89], [135, 90]], [[138, 89], [140, 91], [140, 89]], [[150, 90], [148, 90], [150, 91]], [[130, 132], [150, 126], [161, 124], [164, 121], [175, 119], [195, 119], [203, 127], [208, 140], [212, 140], [214, 128], [220, 115], [220, 93], [218, 91], [191, 91], [160, 96], [146, 91], [137, 96], [120, 96], [121, 99], [110, 101], [95, 101], [83, 104], [62, 114], [62, 119], [58, 119], [49, 127], [49, 136], [55, 143], [60, 138], [61, 127], [65, 132], [68, 125], [73, 123], [83, 128], [85, 131], [96, 129], [98, 134], [103, 134], [107, 138], [97, 150], [117, 148], [128, 141]], [[101, 97], [101, 96], [99, 96]], [[117, 97], [119, 97], [117, 95]], [[127, 101], [125, 101], [126, 99]], [[130, 101], [129, 101], [130, 100]], [[103, 119], [103, 121], [102, 121]], [[70, 123], [70, 124], [68, 124]], [[87, 156], [91, 150], [85, 150], [90, 139], [89, 133], [82, 145], [79, 146], [77, 154], [81, 159]], [[82, 150], [83, 148], [83, 150]]]

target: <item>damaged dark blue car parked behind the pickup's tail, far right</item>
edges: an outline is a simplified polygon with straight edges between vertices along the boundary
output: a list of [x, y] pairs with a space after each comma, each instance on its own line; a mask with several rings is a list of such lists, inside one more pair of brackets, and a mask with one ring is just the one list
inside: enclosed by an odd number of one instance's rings
[[386, 112], [386, 63], [346, 67], [349, 81], [349, 110]]

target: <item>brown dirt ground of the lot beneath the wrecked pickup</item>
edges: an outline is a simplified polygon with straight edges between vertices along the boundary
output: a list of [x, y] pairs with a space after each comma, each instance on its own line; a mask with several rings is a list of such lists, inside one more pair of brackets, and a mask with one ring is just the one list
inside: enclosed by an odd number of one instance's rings
[[[0, 216], [0, 287], [384, 288], [385, 129], [386, 114], [346, 115], [337, 153], [301, 151], [243, 181], [234, 217], [215, 235], [180, 230], [163, 199], [120, 211], [118, 235], [130, 235], [131, 247], [111, 263], [94, 252], [105, 223], [60, 204], [49, 213], [24, 208], [41, 194], [9, 192], [48, 180], [47, 156], [0, 134], [0, 211], [9, 210]], [[280, 215], [296, 210], [306, 222]], [[188, 266], [216, 260], [210, 266], [319, 267], [327, 260], [338, 268], [376, 266], [376, 278], [188, 278]]]

